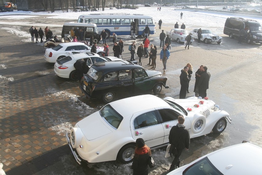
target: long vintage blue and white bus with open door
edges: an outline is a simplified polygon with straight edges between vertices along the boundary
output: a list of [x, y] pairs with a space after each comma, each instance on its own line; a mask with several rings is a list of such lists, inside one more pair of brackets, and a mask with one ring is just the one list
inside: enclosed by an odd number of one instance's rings
[[133, 35], [133, 26], [136, 26], [136, 35], [145, 36], [145, 26], [148, 25], [150, 34], [156, 33], [155, 23], [151, 16], [143, 14], [84, 14], [78, 17], [80, 23], [95, 23], [98, 31], [105, 29], [107, 38], [113, 33], [117, 35]]

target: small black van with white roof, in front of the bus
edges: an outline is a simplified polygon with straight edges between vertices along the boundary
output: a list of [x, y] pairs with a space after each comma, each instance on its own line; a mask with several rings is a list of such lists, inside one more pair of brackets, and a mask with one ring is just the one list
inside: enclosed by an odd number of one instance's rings
[[82, 29], [85, 31], [84, 40], [89, 40], [90, 36], [93, 36], [94, 43], [98, 43], [101, 40], [101, 35], [97, 29], [97, 25], [93, 23], [64, 23], [62, 28], [62, 38], [67, 38], [71, 36], [71, 29]]

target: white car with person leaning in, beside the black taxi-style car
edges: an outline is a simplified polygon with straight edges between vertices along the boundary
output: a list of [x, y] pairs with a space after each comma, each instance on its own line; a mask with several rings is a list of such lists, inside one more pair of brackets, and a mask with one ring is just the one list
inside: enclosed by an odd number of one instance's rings
[[80, 59], [84, 59], [87, 64], [87, 69], [89, 69], [93, 63], [122, 60], [113, 56], [102, 57], [95, 53], [72, 54], [56, 61], [54, 65], [55, 74], [62, 78], [69, 78], [77, 81], [78, 78], [74, 68], [74, 63]]

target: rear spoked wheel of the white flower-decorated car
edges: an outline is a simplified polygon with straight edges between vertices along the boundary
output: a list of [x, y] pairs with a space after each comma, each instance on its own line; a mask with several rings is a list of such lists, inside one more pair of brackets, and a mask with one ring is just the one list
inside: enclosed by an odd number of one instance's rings
[[135, 155], [135, 147], [134, 144], [128, 144], [121, 148], [118, 152], [119, 161], [125, 164], [132, 162]]

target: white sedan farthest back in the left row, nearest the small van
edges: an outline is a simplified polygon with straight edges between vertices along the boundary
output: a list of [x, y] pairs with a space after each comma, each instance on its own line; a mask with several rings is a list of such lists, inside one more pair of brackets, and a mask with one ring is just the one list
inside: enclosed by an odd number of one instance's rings
[[[46, 49], [45, 60], [49, 63], [55, 63], [56, 60], [62, 59], [73, 53], [90, 52], [91, 47], [80, 42], [61, 43], [53, 48]], [[97, 52], [104, 51], [103, 48], [97, 47]]]

